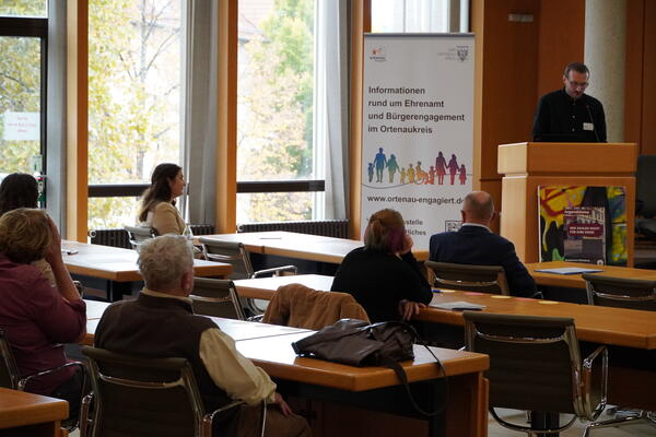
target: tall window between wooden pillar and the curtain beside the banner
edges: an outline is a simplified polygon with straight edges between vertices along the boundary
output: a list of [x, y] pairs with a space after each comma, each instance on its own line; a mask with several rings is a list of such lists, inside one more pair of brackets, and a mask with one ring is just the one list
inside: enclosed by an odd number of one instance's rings
[[[237, 223], [311, 220], [315, 0], [239, 0], [238, 12]], [[305, 191], [281, 192], [290, 180]]]

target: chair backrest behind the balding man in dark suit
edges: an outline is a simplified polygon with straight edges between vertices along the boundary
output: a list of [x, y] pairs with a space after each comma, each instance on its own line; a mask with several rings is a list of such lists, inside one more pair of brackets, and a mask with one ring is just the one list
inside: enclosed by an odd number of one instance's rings
[[438, 288], [476, 291], [509, 295], [505, 271], [501, 265], [471, 265], [425, 261], [433, 272], [433, 285]]

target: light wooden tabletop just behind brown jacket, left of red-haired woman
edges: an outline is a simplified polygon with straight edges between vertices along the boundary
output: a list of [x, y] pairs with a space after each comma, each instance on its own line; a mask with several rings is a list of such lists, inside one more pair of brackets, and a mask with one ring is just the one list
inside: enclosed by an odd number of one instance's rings
[[237, 280], [235, 286], [242, 297], [271, 300], [273, 293], [282, 285], [303, 284], [317, 291], [330, 291], [333, 276], [323, 274], [296, 274], [290, 276], [256, 277], [253, 280]]

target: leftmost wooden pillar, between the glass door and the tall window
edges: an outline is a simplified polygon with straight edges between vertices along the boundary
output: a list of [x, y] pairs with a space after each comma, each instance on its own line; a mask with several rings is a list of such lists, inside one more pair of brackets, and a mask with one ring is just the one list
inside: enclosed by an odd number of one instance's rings
[[86, 241], [89, 131], [89, 4], [71, 0], [67, 12], [66, 236]]

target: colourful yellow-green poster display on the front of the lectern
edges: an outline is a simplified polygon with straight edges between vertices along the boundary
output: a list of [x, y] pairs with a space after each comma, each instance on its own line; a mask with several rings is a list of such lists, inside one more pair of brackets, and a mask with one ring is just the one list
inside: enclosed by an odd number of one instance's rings
[[538, 187], [540, 262], [626, 265], [624, 187]]

